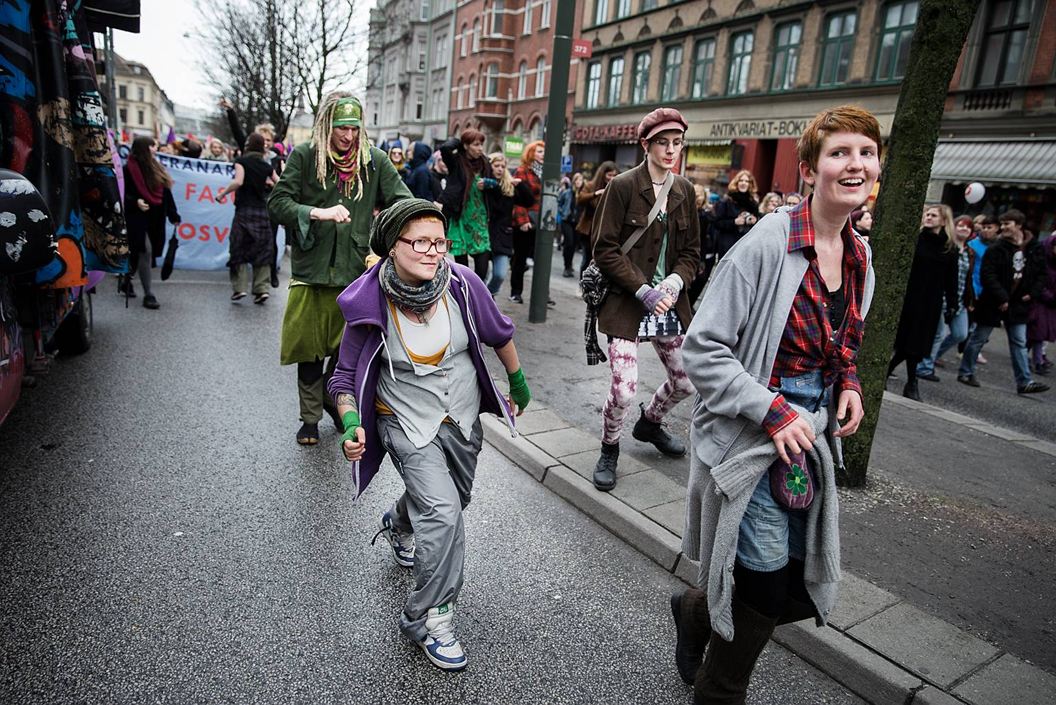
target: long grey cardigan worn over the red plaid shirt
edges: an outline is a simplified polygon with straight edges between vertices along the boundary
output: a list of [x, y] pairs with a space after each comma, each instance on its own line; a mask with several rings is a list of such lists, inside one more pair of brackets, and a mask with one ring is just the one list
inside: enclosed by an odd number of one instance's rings
[[[682, 362], [697, 388], [690, 431], [693, 459], [682, 550], [700, 561], [699, 585], [708, 590], [712, 627], [733, 640], [733, 565], [740, 520], [759, 477], [776, 457], [762, 419], [776, 397], [768, 388], [789, 310], [808, 262], [789, 252], [788, 209], [759, 221], [722, 258], [682, 344]], [[875, 279], [866, 246], [863, 318]], [[836, 400], [833, 399], [833, 404]], [[805, 578], [824, 624], [840, 582], [838, 501], [834, 457], [840, 457], [835, 409], [796, 408], [814, 425], [811, 459], [822, 495], [808, 512]], [[826, 431], [830, 433], [825, 433]]]

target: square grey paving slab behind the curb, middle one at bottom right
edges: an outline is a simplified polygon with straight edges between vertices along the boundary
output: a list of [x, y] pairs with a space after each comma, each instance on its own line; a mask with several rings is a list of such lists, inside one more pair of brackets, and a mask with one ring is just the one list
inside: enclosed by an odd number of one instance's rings
[[847, 633], [943, 689], [998, 654], [996, 647], [906, 603]]

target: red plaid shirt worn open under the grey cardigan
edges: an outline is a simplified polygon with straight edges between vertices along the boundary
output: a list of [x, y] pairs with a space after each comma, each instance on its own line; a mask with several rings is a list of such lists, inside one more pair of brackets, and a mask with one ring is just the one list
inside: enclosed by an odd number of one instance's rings
[[[781, 377], [796, 377], [821, 369], [826, 387], [835, 385], [836, 393], [854, 389], [861, 395], [856, 360], [865, 328], [862, 320], [862, 296], [868, 268], [865, 244], [854, 236], [850, 222], [844, 225], [841, 235], [844, 239], [843, 280], [847, 311], [843, 323], [834, 330], [829, 323], [827, 288], [814, 251], [810, 203], [811, 198], [806, 198], [789, 213], [789, 252], [803, 251], [810, 264], [792, 301], [785, 335], [777, 348], [777, 359], [770, 373], [770, 384], [776, 387]], [[762, 427], [773, 436], [794, 421], [796, 416], [785, 397], [777, 395], [762, 420]]]

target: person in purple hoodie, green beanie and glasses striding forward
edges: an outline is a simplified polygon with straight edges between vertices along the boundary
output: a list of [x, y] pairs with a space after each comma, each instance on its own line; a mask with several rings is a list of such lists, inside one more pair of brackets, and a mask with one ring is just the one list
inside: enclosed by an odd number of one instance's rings
[[[448, 222], [435, 204], [400, 201], [378, 214], [371, 249], [381, 261], [338, 297], [346, 325], [327, 390], [342, 414], [341, 450], [357, 496], [385, 454], [406, 487], [381, 515], [394, 560], [414, 568], [400, 630], [445, 670], [466, 667], [453, 617], [463, 585], [465, 530], [479, 416], [513, 419], [531, 401], [513, 322], [472, 269], [445, 259]], [[491, 347], [509, 397], [491, 379]]]

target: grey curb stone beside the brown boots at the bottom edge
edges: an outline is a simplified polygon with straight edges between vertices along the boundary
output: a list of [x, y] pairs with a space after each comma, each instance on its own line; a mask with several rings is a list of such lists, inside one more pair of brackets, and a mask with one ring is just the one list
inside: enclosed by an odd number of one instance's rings
[[773, 640], [874, 705], [908, 703], [923, 682], [831, 627], [778, 627]]

